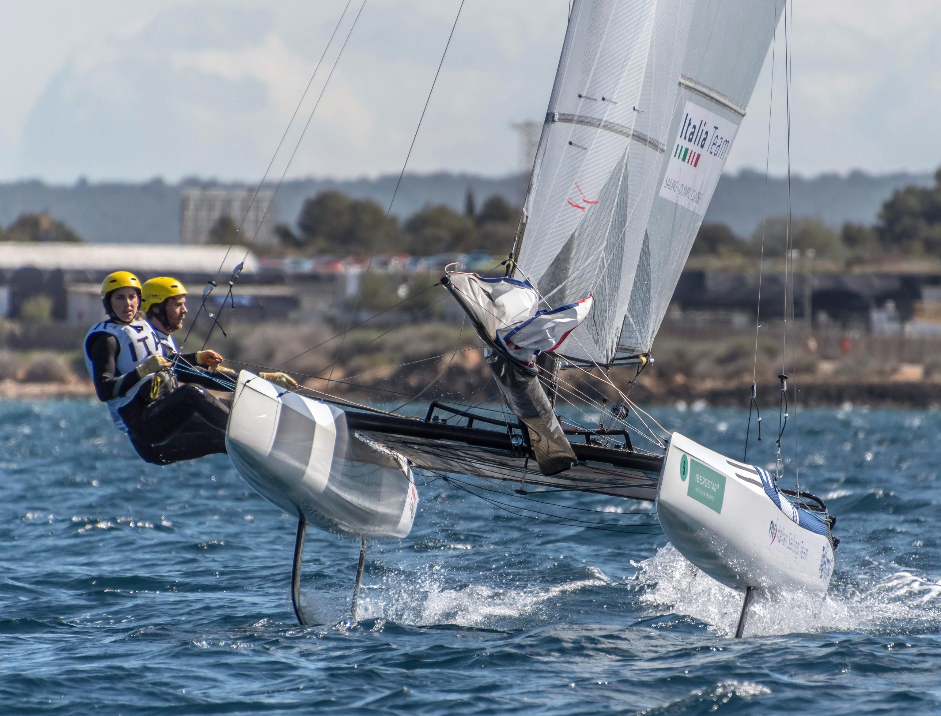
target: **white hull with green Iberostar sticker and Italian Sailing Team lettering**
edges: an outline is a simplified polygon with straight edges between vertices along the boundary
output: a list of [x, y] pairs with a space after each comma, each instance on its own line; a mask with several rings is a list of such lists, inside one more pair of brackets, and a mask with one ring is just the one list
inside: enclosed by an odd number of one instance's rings
[[758, 469], [678, 433], [663, 461], [657, 515], [674, 547], [726, 586], [823, 593], [830, 585], [834, 552], [821, 520], [798, 514], [767, 473], [763, 481]]

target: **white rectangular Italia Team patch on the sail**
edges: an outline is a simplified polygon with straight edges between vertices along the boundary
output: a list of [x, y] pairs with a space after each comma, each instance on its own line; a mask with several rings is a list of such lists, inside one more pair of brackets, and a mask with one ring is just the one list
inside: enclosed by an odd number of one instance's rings
[[671, 145], [660, 196], [695, 214], [706, 215], [738, 129], [735, 122], [687, 102]]

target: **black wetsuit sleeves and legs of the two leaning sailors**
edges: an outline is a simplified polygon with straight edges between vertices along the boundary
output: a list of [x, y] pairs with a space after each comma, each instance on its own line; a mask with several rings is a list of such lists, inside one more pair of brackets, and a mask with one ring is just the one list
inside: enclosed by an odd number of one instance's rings
[[[88, 343], [99, 400], [123, 395], [138, 381], [134, 371], [117, 374], [118, 348], [117, 339], [106, 333], [96, 334]], [[185, 372], [166, 369], [153, 374], [119, 409], [137, 454], [155, 465], [226, 452], [229, 406], [206, 388], [232, 390], [232, 374], [198, 366], [196, 354], [179, 358], [188, 364]]]

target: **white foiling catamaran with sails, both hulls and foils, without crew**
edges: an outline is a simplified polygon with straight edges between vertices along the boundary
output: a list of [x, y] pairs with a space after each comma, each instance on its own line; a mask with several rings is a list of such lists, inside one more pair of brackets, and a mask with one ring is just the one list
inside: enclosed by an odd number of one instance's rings
[[[654, 501], [690, 562], [745, 590], [829, 585], [834, 519], [778, 475], [679, 433], [635, 448], [646, 415], [608, 369], [650, 351], [725, 166], [783, 0], [575, 0], [505, 276], [451, 266], [442, 285], [466, 312], [514, 418], [433, 402], [424, 419], [276, 388], [243, 372], [227, 432], [235, 467], [298, 518], [298, 620], [308, 524], [366, 540], [409, 533], [413, 470]], [[564, 427], [564, 371], [623, 400], [598, 428]], [[561, 397], [560, 397], [561, 396]]]

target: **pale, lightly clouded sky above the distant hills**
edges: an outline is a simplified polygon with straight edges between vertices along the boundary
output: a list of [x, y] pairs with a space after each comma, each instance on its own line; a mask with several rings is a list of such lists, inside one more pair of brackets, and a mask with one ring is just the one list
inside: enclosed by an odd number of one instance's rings
[[[269, 163], [275, 178], [398, 173], [459, 0], [361, 2], [338, 25], [346, 0], [0, 0], [0, 181], [250, 183]], [[545, 117], [567, 9], [466, 0], [409, 171], [522, 168], [511, 124]], [[941, 164], [941, 3], [793, 0], [790, 12], [791, 170]], [[766, 157], [787, 170], [782, 33], [726, 170], [763, 171]]]

